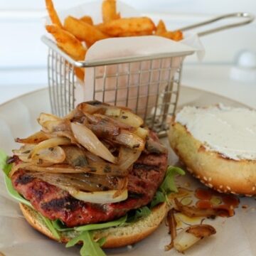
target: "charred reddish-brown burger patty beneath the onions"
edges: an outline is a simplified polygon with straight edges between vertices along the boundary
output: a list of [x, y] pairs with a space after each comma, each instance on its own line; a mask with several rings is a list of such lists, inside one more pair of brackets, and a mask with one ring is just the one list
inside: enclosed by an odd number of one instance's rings
[[129, 171], [126, 201], [96, 204], [79, 201], [67, 191], [18, 170], [11, 177], [18, 193], [50, 220], [62, 220], [68, 227], [100, 223], [119, 218], [128, 210], [146, 206], [164, 179], [167, 154], [142, 153]]

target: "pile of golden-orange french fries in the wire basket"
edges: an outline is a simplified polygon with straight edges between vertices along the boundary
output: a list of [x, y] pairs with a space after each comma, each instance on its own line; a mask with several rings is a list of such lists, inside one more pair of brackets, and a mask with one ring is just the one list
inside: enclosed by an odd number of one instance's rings
[[[68, 16], [63, 24], [52, 0], [46, 0], [46, 8], [52, 23], [46, 25], [46, 30], [53, 35], [58, 47], [74, 60], [84, 60], [87, 49], [105, 38], [156, 35], [174, 41], [183, 39], [181, 31], [167, 31], [164, 21], [160, 20], [156, 26], [148, 17], [122, 18], [117, 13], [116, 0], [102, 1], [100, 24], [95, 24], [90, 16]], [[84, 70], [77, 68], [75, 73], [83, 80]]]

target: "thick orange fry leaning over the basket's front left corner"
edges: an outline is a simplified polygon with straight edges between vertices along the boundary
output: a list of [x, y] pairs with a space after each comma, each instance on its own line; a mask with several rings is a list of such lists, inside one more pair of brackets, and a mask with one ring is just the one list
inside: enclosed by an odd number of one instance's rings
[[58, 47], [64, 50], [74, 60], [84, 60], [86, 49], [71, 33], [56, 25], [47, 25], [46, 30], [55, 38]]

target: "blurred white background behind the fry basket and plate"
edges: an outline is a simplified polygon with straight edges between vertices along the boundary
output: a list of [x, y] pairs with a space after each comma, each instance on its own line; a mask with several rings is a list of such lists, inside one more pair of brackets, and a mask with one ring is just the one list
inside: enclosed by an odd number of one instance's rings
[[[164, 19], [169, 29], [236, 11], [256, 14], [255, 0], [123, 1], [156, 21]], [[57, 11], [84, 2], [86, 0], [54, 0]], [[44, 0], [0, 1], [0, 102], [3, 101], [2, 97], [8, 100], [17, 94], [47, 85], [47, 48], [40, 39], [45, 33], [43, 16], [46, 16]], [[195, 57], [186, 59], [183, 83], [248, 101], [252, 105], [255, 96], [242, 92], [252, 89], [256, 92], [256, 22], [201, 40], [206, 48], [206, 56], [202, 63], [198, 63]], [[244, 62], [249, 62], [250, 75], [247, 75], [247, 69], [241, 77], [239, 70], [236, 73], [233, 67], [244, 51], [247, 51]], [[226, 90], [223, 91], [223, 88]]]

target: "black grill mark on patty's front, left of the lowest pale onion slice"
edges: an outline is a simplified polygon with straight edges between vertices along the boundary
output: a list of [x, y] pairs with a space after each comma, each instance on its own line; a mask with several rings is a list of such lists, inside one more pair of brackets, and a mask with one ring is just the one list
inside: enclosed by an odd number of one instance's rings
[[72, 196], [55, 198], [41, 205], [43, 210], [75, 210], [78, 206], [79, 201]]

